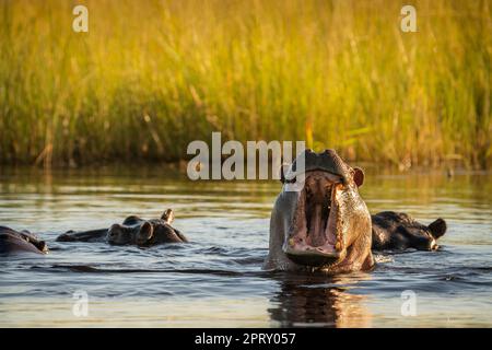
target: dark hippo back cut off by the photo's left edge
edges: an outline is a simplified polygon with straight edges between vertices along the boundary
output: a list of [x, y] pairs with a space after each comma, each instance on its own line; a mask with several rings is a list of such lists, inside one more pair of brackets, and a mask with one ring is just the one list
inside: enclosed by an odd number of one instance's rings
[[15, 231], [0, 226], [0, 254], [35, 253], [47, 254], [48, 246], [35, 234], [24, 230]]

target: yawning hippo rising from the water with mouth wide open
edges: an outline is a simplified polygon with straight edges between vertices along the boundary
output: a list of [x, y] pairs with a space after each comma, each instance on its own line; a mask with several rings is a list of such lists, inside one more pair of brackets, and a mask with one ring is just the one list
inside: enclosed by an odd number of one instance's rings
[[[297, 170], [301, 156], [304, 170]], [[263, 269], [332, 275], [373, 268], [371, 214], [359, 195], [364, 182], [360, 167], [349, 166], [335, 150], [306, 150], [286, 175], [281, 168], [281, 182]]]

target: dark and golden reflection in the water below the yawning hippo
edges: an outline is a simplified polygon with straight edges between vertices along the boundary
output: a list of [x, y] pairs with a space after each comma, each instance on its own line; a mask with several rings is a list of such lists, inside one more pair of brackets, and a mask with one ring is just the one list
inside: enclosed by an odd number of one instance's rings
[[268, 312], [281, 327], [371, 327], [372, 314], [364, 305], [366, 296], [349, 292], [350, 284], [368, 278], [363, 273], [288, 276], [271, 299], [276, 306]]

